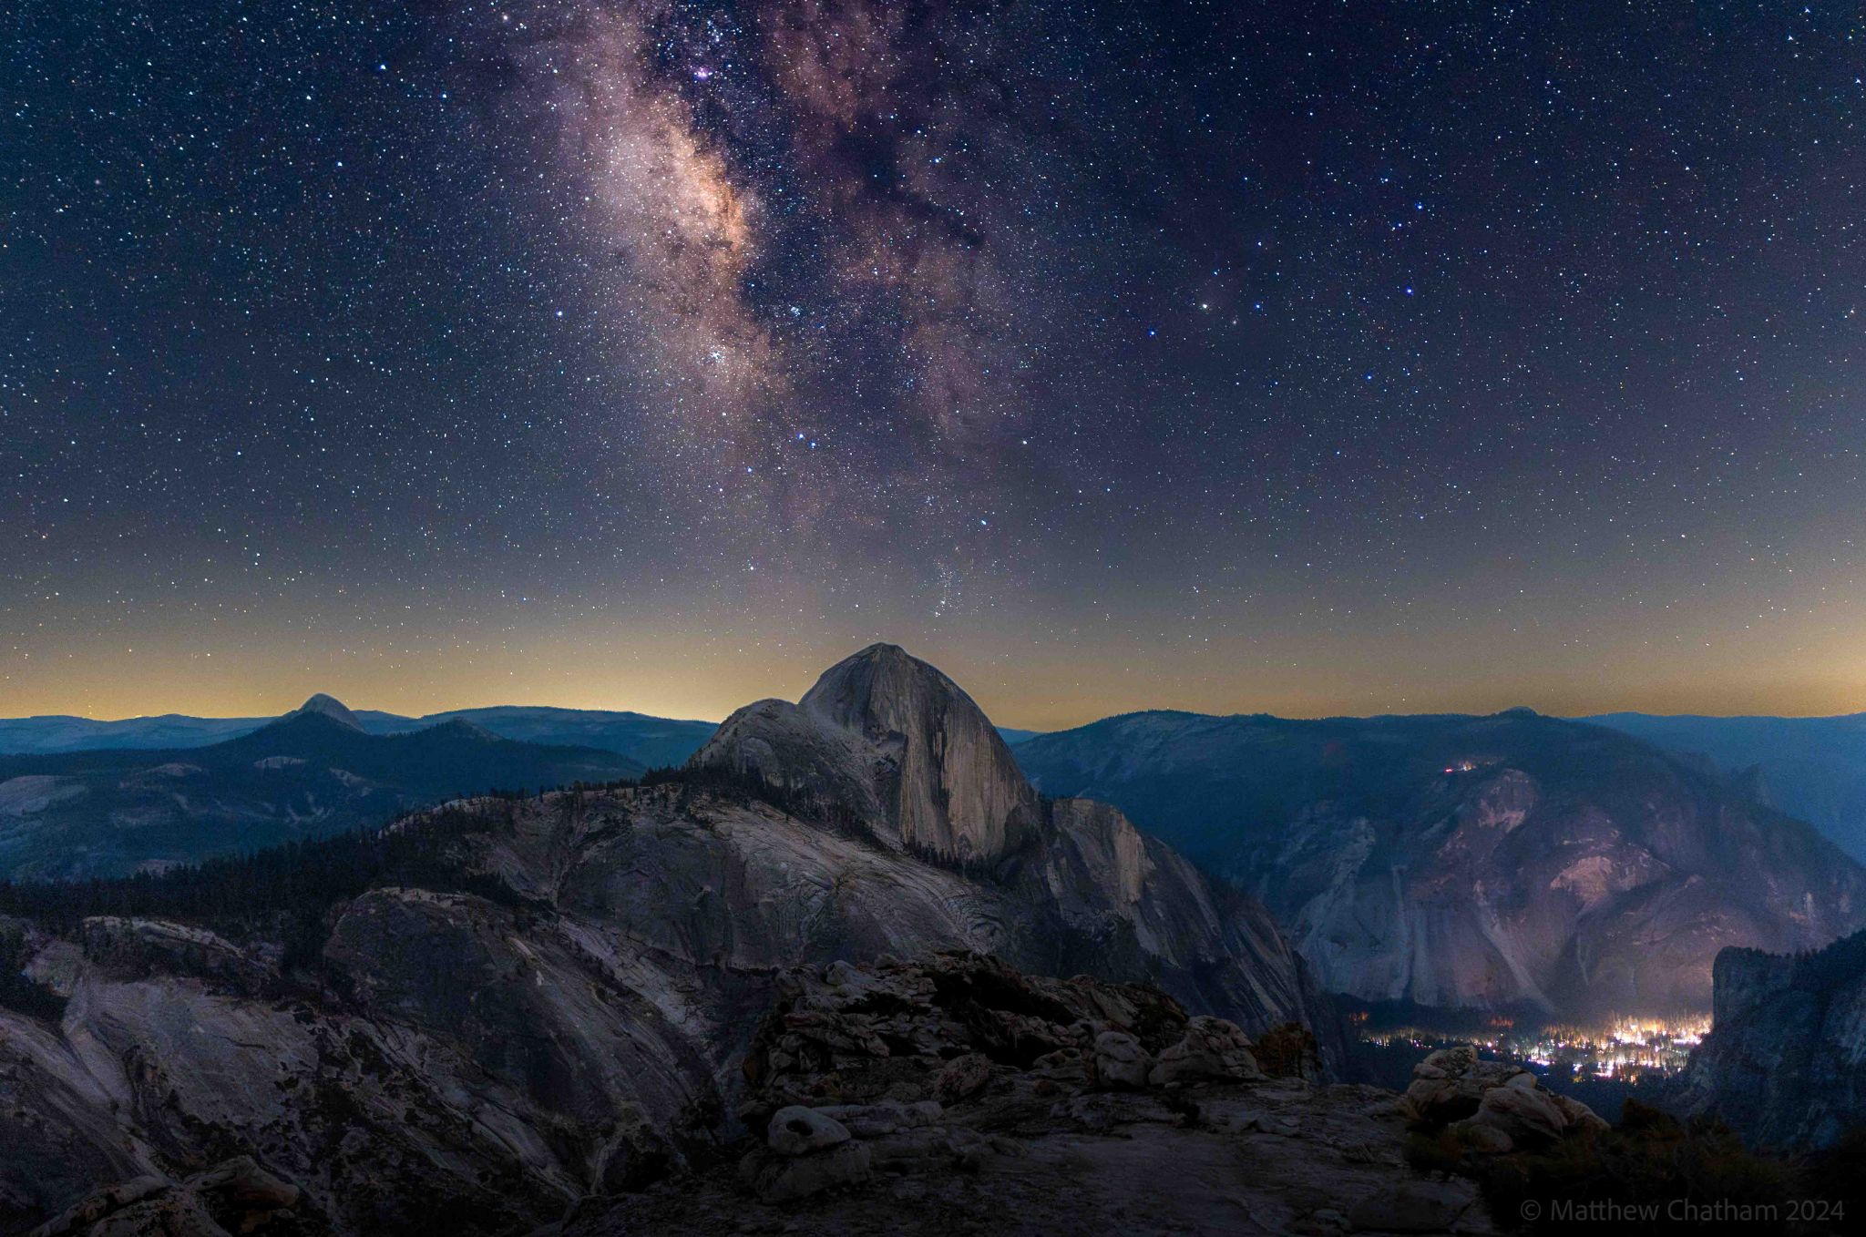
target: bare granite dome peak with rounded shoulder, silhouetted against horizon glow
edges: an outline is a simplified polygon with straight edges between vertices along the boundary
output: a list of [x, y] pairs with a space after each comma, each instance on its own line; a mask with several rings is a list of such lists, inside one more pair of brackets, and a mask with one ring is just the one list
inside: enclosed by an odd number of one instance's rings
[[812, 791], [888, 841], [948, 860], [995, 862], [1037, 819], [1036, 793], [983, 711], [892, 644], [830, 666], [795, 707], [741, 709], [694, 761]]

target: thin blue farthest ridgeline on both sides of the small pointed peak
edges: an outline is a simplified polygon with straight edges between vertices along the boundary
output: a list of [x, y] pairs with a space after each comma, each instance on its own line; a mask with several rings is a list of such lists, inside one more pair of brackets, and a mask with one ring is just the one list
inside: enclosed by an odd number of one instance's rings
[[[349, 711], [345, 711], [349, 713]], [[452, 709], [427, 716], [401, 716], [358, 709], [351, 720], [371, 735], [397, 735], [440, 722], [472, 722], [500, 739], [603, 748], [627, 756], [646, 769], [679, 765], [700, 750], [715, 730], [713, 722], [687, 722], [642, 713], [608, 709], [550, 709], [496, 705], [491, 709]], [[54, 752], [99, 752], [106, 748], [198, 748], [224, 743], [267, 726], [269, 716], [134, 716], [95, 722], [84, 716], [0, 718], [0, 754], [47, 756]]]

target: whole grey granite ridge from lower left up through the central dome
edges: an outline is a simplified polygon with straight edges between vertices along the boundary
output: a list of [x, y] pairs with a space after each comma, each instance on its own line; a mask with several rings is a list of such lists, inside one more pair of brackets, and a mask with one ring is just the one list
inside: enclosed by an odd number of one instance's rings
[[752, 1035], [795, 968], [961, 950], [1338, 1041], [1260, 905], [1112, 808], [1008, 785], [937, 672], [898, 651], [843, 668], [804, 705], [741, 711], [685, 782], [455, 804], [440, 888], [338, 901], [321, 942], [289, 942], [310, 965], [153, 918], [32, 929], [32, 972], [69, 1004], [56, 1024], [0, 1009], [0, 1230], [252, 1155], [340, 1233], [435, 1207], [459, 1237], [526, 1231], [737, 1136]]

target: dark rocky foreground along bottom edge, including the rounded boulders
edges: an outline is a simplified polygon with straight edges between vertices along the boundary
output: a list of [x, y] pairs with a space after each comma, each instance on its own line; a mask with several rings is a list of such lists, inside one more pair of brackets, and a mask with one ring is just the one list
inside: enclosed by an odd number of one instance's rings
[[[1487, 1233], [1476, 1187], [1411, 1168], [1409, 1138], [1463, 1125], [1502, 1153], [1597, 1121], [1469, 1050], [1433, 1056], [1407, 1095], [1325, 1084], [1301, 1026], [1252, 1041], [1144, 985], [978, 953], [832, 963], [782, 991], [745, 1058], [735, 1146], [532, 1231]], [[328, 1228], [237, 1157], [99, 1190], [39, 1235]]]

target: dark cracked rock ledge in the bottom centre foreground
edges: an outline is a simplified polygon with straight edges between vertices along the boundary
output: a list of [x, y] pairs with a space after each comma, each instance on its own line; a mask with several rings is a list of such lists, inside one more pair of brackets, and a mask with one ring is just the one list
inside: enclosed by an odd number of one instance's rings
[[[1153, 1084], [1103, 1071], [1110, 1039], [1123, 1058], [1224, 1050], [1198, 1080]], [[982, 1073], [963, 1093], [942, 1086], [954, 1062]], [[965, 955], [838, 965], [799, 976], [746, 1073], [750, 1127], [808, 1108], [849, 1140], [802, 1157], [754, 1144], [737, 1172], [692, 1172], [554, 1231], [1495, 1231], [1469, 1181], [1407, 1166], [1401, 1097], [1267, 1078], [1239, 1028], [1144, 987]]]

